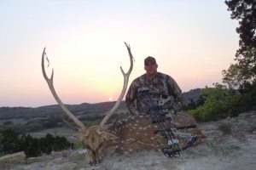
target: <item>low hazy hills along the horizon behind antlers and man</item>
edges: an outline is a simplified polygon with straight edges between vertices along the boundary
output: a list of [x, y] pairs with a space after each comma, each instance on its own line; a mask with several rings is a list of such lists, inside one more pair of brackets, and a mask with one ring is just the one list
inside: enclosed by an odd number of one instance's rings
[[[196, 101], [201, 94], [200, 88], [195, 88], [189, 92], [183, 93], [183, 105], [187, 105], [190, 101]], [[96, 118], [102, 117], [107, 111], [110, 111], [115, 104], [112, 102], [102, 102], [96, 104], [83, 103], [80, 105], [66, 105], [68, 110], [73, 112], [79, 118]], [[125, 101], [121, 101], [118, 111], [128, 112]], [[44, 118], [62, 114], [59, 105], [45, 105], [41, 107], [0, 107], [0, 120], [9, 119], [32, 119]]]

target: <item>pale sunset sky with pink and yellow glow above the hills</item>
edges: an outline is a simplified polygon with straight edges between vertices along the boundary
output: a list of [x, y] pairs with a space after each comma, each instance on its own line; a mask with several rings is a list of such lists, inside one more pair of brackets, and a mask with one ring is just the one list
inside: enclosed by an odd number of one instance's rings
[[75, 105], [116, 100], [154, 56], [158, 71], [183, 92], [222, 82], [234, 62], [236, 27], [224, 0], [0, 0], [0, 106], [55, 105], [41, 70], [54, 69], [55, 90]]

